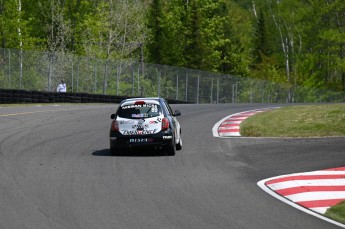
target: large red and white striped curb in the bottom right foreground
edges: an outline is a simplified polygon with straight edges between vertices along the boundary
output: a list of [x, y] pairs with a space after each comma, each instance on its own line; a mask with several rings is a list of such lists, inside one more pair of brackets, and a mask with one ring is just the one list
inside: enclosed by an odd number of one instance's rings
[[328, 208], [345, 201], [345, 167], [283, 175], [257, 184], [275, 198], [345, 228], [344, 224], [322, 215]]

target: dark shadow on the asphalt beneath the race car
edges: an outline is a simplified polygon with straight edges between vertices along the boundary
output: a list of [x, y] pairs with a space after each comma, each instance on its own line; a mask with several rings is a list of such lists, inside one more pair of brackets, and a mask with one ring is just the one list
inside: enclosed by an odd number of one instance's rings
[[[92, 153], [93, 156], [97, 157], [167, 157], [167, 153], [160, 150], [154, 149], [136, 149], [121, 151], [116, 154], [112, 154], [110, 149], [97, 150]], [[168, 156], [169, 157], [169, 156]]]

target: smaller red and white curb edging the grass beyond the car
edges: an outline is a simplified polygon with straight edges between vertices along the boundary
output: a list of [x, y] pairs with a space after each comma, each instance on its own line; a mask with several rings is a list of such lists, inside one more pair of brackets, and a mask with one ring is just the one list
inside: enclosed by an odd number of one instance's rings
[[229, 115], [219, 122], [217, 122], [213, 128], [212, 133], [214, 137], [239, 137], [240, 134], [240, 125], [246, 118], [255, 115], [257, 113], [268, 111], [274, 108], [263, 108], [258, 110], [244, 111], [236, 114]]

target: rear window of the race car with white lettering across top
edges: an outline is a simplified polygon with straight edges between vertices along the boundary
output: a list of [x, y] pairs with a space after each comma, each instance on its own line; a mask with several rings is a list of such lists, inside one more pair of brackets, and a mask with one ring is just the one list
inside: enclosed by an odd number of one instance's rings
[[161, 107], [157, 104], [132, 104], [121, 106], [117, 115], [121, 118], [140, 119], [160, 116]]

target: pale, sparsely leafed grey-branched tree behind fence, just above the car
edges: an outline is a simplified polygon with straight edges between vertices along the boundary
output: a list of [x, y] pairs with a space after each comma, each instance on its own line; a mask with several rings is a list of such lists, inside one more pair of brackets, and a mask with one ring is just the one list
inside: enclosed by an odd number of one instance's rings
[[[145, 10], [146, 5], [139, 1], [103, 1], [84, 21], [84, 36], [88, 41], [84, 42], [86, 54], [105, 60], [104, 94], [107, 93], [111, 61], [130, 57], [145, 43], [146, 32], [142, 23]], [[116, 87], [118, 91], [118, 83]]]

